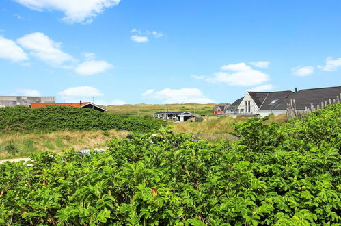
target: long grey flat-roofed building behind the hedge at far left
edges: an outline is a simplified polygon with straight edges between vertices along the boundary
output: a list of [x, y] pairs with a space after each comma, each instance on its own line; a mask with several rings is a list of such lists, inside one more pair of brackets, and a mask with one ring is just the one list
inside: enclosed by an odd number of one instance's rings
[[0, 96], [0, 108], [17, 105], [29, 107], [30, 103], [55, 103], [55, 97]]

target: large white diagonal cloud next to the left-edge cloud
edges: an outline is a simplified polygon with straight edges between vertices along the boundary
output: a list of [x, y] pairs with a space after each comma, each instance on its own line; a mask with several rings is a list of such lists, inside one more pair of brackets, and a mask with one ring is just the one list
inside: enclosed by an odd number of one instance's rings
[[18, 38], [18, 44], [25, 49], [29, 49], [30, 54], [36, 58], [51, 64], [52, 66], [62, 66], [66, 62], [74, 62], [68, 53], [62, 51], [62, 44], [54, 42], [43, 33], [36, 32]]

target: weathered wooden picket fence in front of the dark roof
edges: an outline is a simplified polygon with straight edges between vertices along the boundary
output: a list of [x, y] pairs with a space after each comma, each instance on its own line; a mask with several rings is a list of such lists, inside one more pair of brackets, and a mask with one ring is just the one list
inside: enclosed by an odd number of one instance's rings
[[290, 103], [288, 103], [288, 108], [286, 109], [286, 117], [289, 119], [291, 117], [301, 117], [303, 114], [309, 114], [310, 112], [314, 112], [318, 109], [323, 109], [329, 104], [333, 103], [340, 103], [341, 93], [340, 95], [336, 96], [336, 99], [328, 99], [328, 101], [322, 101], [317, 106], [310, 103], [310, 106], [305, 106], [305, 110], [297, 110], [295, 99], [291, 99]]

